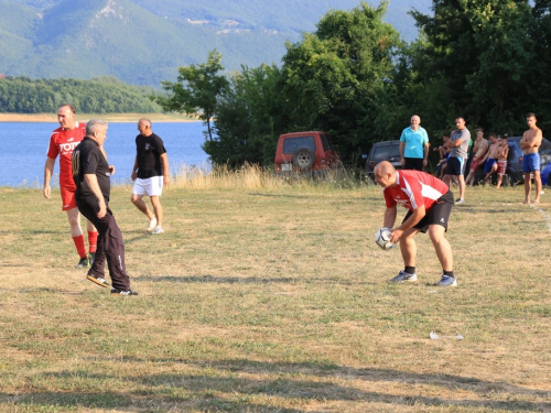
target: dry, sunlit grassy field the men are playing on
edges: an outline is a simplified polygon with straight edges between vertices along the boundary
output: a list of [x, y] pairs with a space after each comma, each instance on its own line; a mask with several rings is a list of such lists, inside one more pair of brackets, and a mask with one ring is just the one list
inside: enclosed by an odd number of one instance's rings
[[159, 237], [112, 192], [125, 298], [73, 269], [58, 195], [0, 188], [1, 412], [551, 412], [549, 195], [467, 189], [437, 289], [426, 236], [387, 283], [378, 187], [184, 175]]

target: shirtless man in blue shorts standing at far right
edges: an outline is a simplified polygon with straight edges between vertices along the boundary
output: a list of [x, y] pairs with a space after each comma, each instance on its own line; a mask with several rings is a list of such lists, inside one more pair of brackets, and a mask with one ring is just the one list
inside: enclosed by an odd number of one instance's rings
[[531, 174], [536, 182], [536, 198], [534, 204], [540, 203], [541, 194], [541, 176], [540, 176], [540, 154], [538, 150], [541, 145], [542, 133], [541, 129], [536, 126], [537, 119], [534, 113], [526, 116], [528, 129], [520, 140], [520, 149], [522, 150], [522, 172], [525, 173], [525, 200], [522, 204], [530, 204], [530, 191], [532, 188]]

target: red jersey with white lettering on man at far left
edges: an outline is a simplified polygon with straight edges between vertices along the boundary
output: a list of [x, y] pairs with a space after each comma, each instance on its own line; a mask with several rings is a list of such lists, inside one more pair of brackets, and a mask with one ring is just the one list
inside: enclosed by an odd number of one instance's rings
[[76, 191], [75, 183], [73, 182], [71, 157], [73, 156], [74, 149], [85, 135], [86, 124], [82, 122], [77, 122], [72, 130], [57, 128], [52, 132], [47, 157], [55, 160], [60, 155], [60, 186], [63, 188]]

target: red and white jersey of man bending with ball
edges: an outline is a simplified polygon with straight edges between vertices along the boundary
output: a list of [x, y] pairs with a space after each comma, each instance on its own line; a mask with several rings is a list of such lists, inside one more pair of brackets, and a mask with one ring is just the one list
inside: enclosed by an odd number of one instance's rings
[[388, 208], [397, 204], [410, 210], [424, 205], [425, 210], [450, 189], [437, 177], [419, 171], [396, 171], [396, 186], [385, 188], [385, 200]]

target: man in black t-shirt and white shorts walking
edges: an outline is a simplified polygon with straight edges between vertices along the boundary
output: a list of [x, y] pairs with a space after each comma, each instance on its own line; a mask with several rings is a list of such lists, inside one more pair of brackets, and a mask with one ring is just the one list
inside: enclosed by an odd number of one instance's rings
[[[148, 217], [148, 232], [163, 233], [163, 207], [160, 197], [163, 187], [170, 183], [169, 156], [163, 140], [151, 130], [151, 120], [140, 119], [138, 130], [140, 134], [136, 137], [137, 154], [131, 175], [134, 186], [130, 200]], [[143, 202], [144, 195], [151, 199], [154, 215]]]

